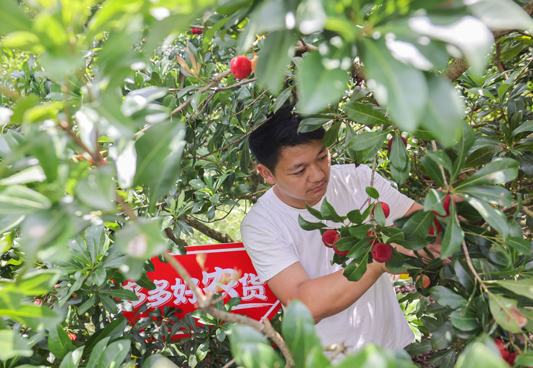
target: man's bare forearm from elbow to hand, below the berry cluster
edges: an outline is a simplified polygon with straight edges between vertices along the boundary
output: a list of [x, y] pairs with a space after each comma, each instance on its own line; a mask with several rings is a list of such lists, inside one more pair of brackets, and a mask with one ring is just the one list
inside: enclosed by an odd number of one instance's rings
[[356, 302], [384, 273], [383, 266], [371, 263], [359, 281], [349, 281], [342, 274], [344, 269], [298, 285], [296, 299], [310, 310], [314, 323], [333, 316]]

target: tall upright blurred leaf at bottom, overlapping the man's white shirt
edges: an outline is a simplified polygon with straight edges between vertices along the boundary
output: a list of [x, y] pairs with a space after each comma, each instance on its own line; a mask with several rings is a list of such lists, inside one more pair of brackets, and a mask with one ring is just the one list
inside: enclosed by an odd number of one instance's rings
[[303, 367], [305, 357], [313, 348], [321, 348], [314, 332], [314, 320], [309, 309], [299, 300], [292, 300], [281, 322], [281, 334], [293, 355], [294, 365]]

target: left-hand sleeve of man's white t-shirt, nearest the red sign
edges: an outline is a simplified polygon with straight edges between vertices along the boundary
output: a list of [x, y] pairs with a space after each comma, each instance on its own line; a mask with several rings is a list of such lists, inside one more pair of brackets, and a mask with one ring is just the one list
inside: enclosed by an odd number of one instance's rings
[[256, 214], [249, 213], [240, 225], [243, 244], [261, 281], [268, 281], [299, 261], [290, 244]]

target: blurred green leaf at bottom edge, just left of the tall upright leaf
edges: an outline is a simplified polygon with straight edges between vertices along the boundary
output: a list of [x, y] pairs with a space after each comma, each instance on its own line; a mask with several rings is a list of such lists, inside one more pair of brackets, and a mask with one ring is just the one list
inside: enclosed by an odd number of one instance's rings
[[282, 367], [284, 365], [281, 357], [268, 344], [264, 335], [251, 326], [233, 325], [229, 338], [231, 355], [235, 359], [235, 363], [240, 366], [263, 368]]

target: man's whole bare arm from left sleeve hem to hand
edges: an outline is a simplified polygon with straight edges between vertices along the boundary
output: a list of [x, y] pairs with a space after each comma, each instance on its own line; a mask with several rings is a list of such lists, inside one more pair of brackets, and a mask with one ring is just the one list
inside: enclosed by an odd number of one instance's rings
[[342, 274], [344, 269], [311, 280], [300, 262], [296, 262], [266, 283], [284, 306], [292, 299], [302, 301], [311, 311], [314, 323], [318, 323], [356, 302], [386, 272], [384, 266], [368, 264], [359, 281], [346, 279]]

